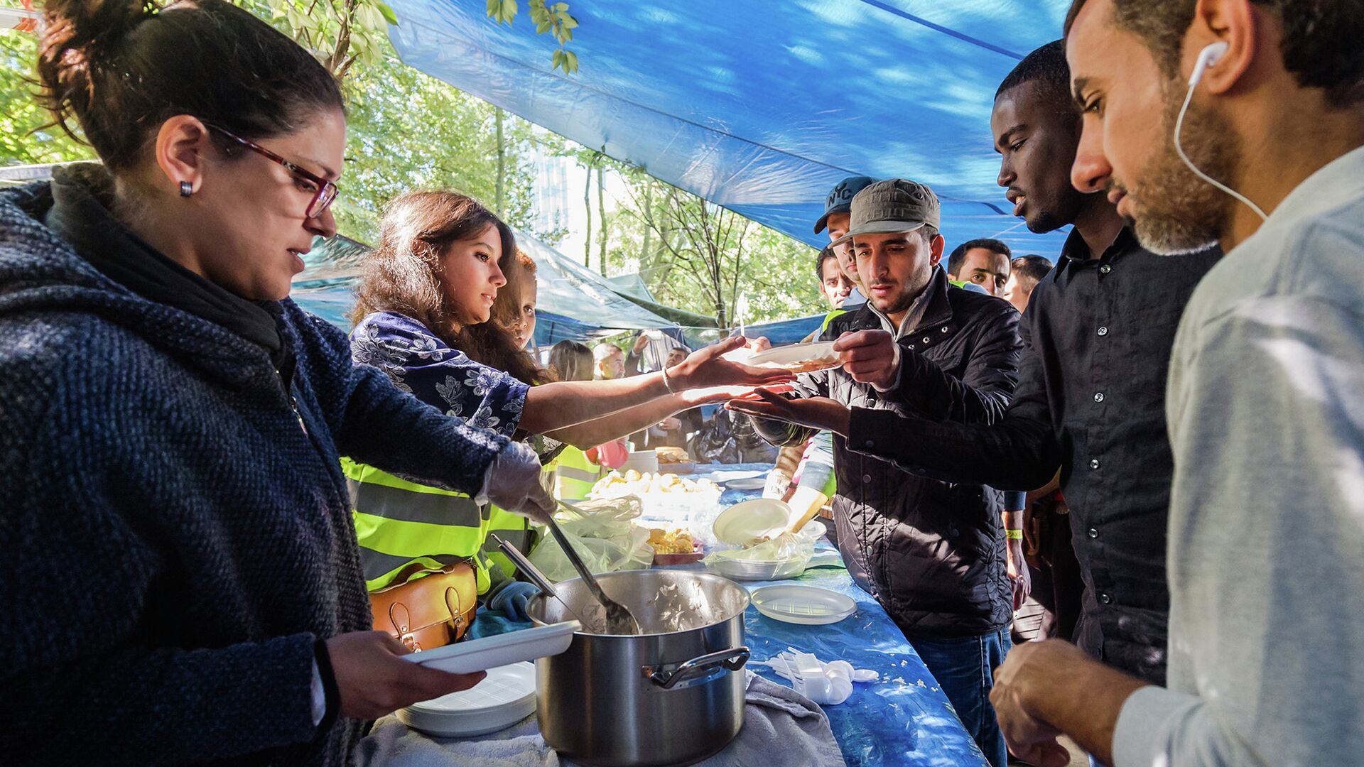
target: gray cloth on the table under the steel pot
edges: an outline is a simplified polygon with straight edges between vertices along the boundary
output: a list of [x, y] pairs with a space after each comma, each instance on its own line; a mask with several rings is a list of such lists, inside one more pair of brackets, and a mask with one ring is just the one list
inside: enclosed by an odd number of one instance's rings
[[[765, 764], [780, 753], [783, 764], [842, 767], [843, 753], [829, 718], [794, 689], [745, 671], [749, 680], [743, 729], [720, 753], [697, 767]], [[360, 741], [364, 767], [572, 767], [540, 737], [535, 717], [475, 738], [439, 738], [409, 730], [394, 717], [379, 719]]]

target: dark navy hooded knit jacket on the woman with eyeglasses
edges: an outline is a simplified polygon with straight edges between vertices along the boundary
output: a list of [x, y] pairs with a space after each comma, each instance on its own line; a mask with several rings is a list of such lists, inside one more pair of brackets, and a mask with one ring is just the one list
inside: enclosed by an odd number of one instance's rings
[[371, 622], [337, 456], [472, 493], [506, 438], [289, 300], [286, 393], [261, 345], [91, 267], [50, 205], [0, 194], [0, 762], [348, 763], [360, 722], [318, 733], [310, 696], [314, 643]]

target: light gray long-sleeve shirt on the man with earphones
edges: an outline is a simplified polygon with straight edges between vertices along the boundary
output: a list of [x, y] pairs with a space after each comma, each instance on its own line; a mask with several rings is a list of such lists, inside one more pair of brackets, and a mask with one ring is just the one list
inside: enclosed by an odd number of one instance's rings
[[1123, 707], [1116, 767], [1364, 762], [1361, 278], [1364, 147], [1189, 300], [1166, 393], [1168, 688]]

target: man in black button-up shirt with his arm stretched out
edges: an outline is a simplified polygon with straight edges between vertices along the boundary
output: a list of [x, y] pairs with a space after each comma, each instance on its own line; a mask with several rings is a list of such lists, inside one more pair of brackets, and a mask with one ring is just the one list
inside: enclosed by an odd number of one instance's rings
[[990, 119], [1015, 214], [1034, 232], [1073, 224], [1023, 317], [1028, 349], [1001, 422], [895, 418], [828, 400], [735, 407], [832, 429], [853, 450], [948, 482], [1039, 487], [1061, 467], [1086, 584], [1076, 644], [1163, 684], [1165, 375], [1184, 304], [1221, 254], [1154, 255], [1102, 194], [1075, 191], [1080, 126], [1068, 81], [1061, 42], [1045, 45], [1000, 86]]

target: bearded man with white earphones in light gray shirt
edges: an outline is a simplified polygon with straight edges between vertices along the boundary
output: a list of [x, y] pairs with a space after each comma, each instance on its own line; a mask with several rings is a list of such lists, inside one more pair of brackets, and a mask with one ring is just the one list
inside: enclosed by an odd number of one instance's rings
[[992, 700], [1028, 762], [1058, 733], [1113, 767], [1364, 762], [1360, 40], [1360, 0], [1071, 8], [1072, 183], [1153, 251], [1228, 252], [1170, 360], [1166, 686], [1015, 648]]

